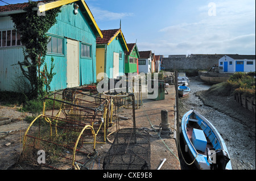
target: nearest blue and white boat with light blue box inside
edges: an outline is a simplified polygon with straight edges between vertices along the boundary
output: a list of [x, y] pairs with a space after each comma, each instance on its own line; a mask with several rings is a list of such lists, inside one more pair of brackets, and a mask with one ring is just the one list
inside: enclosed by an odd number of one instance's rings
[[228, 149], [220, 133], [195, 110], [184, 114], [181, 121], [185, 151], [198, 169], [232, 170]]

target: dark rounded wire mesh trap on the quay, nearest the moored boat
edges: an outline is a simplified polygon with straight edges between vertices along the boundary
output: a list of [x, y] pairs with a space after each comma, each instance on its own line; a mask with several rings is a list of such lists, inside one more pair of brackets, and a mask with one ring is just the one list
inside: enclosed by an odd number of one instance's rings
[[150, 138], [138, 128], [119, 129], [104, 157], [104, 170], [150, 170]]

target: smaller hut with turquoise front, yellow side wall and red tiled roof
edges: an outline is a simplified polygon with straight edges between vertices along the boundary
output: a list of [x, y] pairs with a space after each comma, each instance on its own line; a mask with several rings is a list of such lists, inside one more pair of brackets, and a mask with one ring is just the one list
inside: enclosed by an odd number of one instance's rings
[[125, 51], [129, 51], [121, 28], [101, 30], [103, 38], [97, 37], [97, 79], [105, 73], [108, 78], [117, 78], [125, 73]]

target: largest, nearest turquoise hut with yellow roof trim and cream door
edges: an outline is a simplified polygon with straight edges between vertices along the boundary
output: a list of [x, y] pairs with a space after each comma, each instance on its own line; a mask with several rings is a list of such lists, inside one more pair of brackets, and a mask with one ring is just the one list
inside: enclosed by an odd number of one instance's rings
[[[39, 1], [42, 2], [42, 1]], [[96, 82], [96, 38], [102, 38], [100, 28], [84, 0], [43, 1], [40, 12], [61, 6], [61, 12], [47, 32], [51, 38], [46, 56], [47, 65], [54, 58], [56, 75], [51, 91], [77, 87]], [[24, 12], [28, 3], [0, 6], [0, 91], [13, 89], [13, 82], [21, 75], [20, 68], [13, 66], [23, 60], [24, 46], [14, 28], [11, 14]]]

